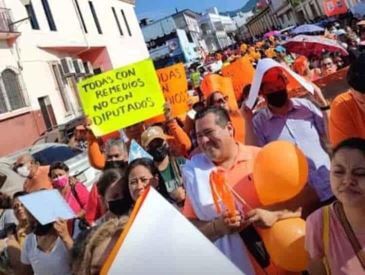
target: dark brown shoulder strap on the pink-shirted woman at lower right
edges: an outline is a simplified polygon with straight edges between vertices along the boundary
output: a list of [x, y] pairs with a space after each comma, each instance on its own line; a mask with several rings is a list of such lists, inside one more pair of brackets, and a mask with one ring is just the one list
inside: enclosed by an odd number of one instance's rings
[[342, 227], [343, 227], [344, 231], [346, 232], [346, 235], [351, 243], [353, 250], [356, 253], [358, 260], [360, 261], [360, 263], [362, 265], [362, 268], [365, 270], [365, 252], [362, 250], [361, 244], [358, 242], [358, 239], [346, 218], [346, 214], [343, 211], [342, 204], [340, 202], [334, 203], [334, 209], [335, 209], [336, 213], [338, 214]]

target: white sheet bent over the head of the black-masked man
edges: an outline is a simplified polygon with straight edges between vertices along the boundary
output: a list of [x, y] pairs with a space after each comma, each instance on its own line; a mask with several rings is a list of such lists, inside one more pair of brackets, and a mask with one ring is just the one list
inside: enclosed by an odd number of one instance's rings
[[271, 58], [263, 58], [258, 60], [256, 66], [256, 71], [253, 76], [253, 82], [251, 85], [251, 89], [249, 90], [248, 99], [246, 101], [246, 105], [248, 108], [252, 109], [254, 102], [258, 96], [258, 92], [261, 86], [262, 76], [265, 74], [267, 70], [273, 67], [280, 67], [284, 69], [287, 73], [291, 74], [294, 77], [294, 79], [298, 81], [301, 86], [303, 86], [303, 88], [305, 88], [312, 94], [314, 93], [314, 87], [299, 74], [295, 73], [291, 69], [285, 67], [284, 65], [281, 65], [280, 63], [276, 62]]

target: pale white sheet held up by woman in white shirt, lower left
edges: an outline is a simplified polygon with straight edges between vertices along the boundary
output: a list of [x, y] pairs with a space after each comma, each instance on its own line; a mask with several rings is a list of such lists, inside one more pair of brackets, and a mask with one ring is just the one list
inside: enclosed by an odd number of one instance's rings
[[55, 221], [58, 217], [76, 217], [71, 207], [56, 189], [32, 192], [19, 196], [20, 202], [42, 225]]

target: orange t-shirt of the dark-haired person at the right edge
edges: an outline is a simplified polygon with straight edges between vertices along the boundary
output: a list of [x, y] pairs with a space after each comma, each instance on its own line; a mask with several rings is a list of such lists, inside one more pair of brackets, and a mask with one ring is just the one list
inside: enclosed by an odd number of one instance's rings
[[365, 138], [365, 112], [350, 91], [339, 94], [331, 103], [329, 137], [333, 146], [350, 137]]

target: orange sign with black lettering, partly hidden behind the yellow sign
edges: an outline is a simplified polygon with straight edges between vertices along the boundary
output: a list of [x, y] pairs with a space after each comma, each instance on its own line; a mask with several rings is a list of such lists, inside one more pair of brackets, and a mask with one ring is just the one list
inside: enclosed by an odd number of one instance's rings
[[[189, 109], [187, 100], [187, 79], [182, 63], [156, 70], [159, 84], [166, 102], [171, 104], [172, 116], [176, 117], [186, 113]], [[164, 115], [148, 119], [146, 123], [153, 124], [165, 121]]]

